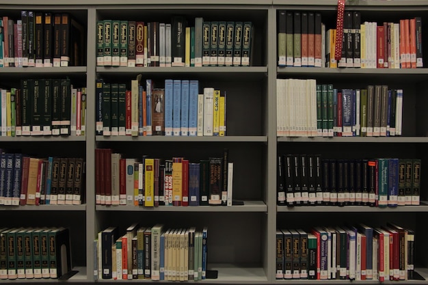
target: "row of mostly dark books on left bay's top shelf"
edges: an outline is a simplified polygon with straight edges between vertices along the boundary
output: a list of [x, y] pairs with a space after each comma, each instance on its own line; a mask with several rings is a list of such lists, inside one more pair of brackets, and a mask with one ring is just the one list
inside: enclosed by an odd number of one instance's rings
[[85, 31], [69, 14], [0, 16], [0, 67], [84, 66]]

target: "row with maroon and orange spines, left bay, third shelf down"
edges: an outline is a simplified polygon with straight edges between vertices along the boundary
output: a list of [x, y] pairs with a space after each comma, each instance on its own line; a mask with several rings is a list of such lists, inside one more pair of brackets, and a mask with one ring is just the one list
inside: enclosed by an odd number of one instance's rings
[[0, 205], [79, 205], [85, 190], [81, 158], [0, 154]]

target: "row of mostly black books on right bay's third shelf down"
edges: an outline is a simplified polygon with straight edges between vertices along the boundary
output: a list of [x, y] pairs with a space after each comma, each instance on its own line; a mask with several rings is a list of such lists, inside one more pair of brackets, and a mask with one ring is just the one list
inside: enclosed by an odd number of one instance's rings
[[420, 204], [420, 159], [278, 156], [278, 205]]

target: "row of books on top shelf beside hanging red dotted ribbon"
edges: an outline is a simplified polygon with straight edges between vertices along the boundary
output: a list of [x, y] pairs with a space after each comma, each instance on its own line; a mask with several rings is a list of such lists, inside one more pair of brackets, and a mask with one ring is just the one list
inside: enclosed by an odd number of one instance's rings
[[279, 10], [278, 66], [422, 68], [421, 38], [420, 17], [378, 25], [362, 23], [359, 11], [345, 11], [338, 33], [326, 31], [320, 12]]

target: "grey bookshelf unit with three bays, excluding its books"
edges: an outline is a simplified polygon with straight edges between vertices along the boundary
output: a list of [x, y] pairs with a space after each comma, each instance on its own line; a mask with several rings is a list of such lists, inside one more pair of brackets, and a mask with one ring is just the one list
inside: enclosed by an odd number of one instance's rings
[[[428, 117], [425, 107], [428, 98], [427, 68], [418, 69], [330, 69], [277, 67], [276, 27], [278, 10], [320, 11], [323, 19], [334, 20], [337, 1], [334, 0], [233, 0], [233, 1], [152, 1], [137, 0], [3, 0], [0, 13], [18, 17], [21, 10], [70, 12], [87, 30], [85, 66], [64, 68], [0, 68], [0, 85], [17, 84], [25, 78], [62, 78], [84, 83], [88, 89], [87, 135], [85, 137], [0, 137], [1, 148], [19, 148], [40, 155], [81, 155], [86, 159], [85, 203], [79, 206], [0, 206], [7, 223], [1, 226], [68, 226], [71, 230], [72, 258], [79, 273], [68, 282], [94, 284], [114, 280], [94, 281], [93, 240], [107, 226], [119, 225], [123, 232], [138, 221], [144, 226], [165, 223], [165, 226], [208, 226], [209, 269], [218, 270], [218, 279], [204, 280], [205, 284], [319, 284], [320, 280], [276, 280], [276, 228], [310, 228], [325, 221], [335, 224], [344, 221], [382, 223], [392, 220], [416, 230], [416, 271], [428, 280], [428, 246], [423, 236], [428, 234], [427, 194], [421, 185], [420, 206], [374, 208], [369, 206], [301, 206], [276, 205], [277, 155], [285, 153], [321, 153], [325, 156], [362, 155], [418, 157], [428, 159]], [[384, 21], [415, 16], [423, 17], [423, 31], [428, 31], [428, 4], [413, 1], [347, 1], [346, 9], [362, 11], [371, 21]], [[403, 13], [403, 16], [401, 14]], [[0, 14], [0, 16], [1, 16]], [[172, 15], [189, 18], [224, 18], [248, 20], [256, 28], [254, 57], [250, 67], [105, 67], [96, 66], [96, 21], [107, 18], [136, 20], [147, 18], [168, 21]], [[332, 23], [327, 23], [333, 27]], [[423, 46], [428, 46], [427, 37]], [[425, 48], [424, 48], [425, 51]], [[428, 64], [427, 53], [424, 56]], [[95, 135], [95, 81], [129, 84], [137, 74], [143, 79], [198, 79], [200, 87], [213, 85], [227, 90], [228, 134], [225, 137], [102, 137]], [[343, 86], [386, 83], [405, 90], [402, 137], [277, 137], [276, 135], [276, 79], [317, 79]], [[408, 94], [408, 95], [407, 95]], [[245, 105], [242, 103], [245, 102]], [[230, 116], [229, 116], [230, 115]], [[170, 158], [184, 156], [205, 159], [221, 155], [228, 148], [230, 160], [235, 163], [234, 199], [243, 200], [243, 206], [144, 208], [135, 206], [101, 206], [95, 203], [95, 148], [112, 148], [127, 156]], [[349, 149], [356, 152], [349, 154]], [[423, 163], [424, 164], [424, 163]], [[423, 174], [427, 170], [423, 166]], [[12, 222], [13, 221], [13, 222]], [[328, 222], [327, 222], [328, 223]], [[406, 281], [403, 284], [427, 284], [428, 281]], [[4, 283], [16, 281], [3, 280]], [[22, 283], [46, 280], [18, 280]], [[56, 282], [56, 280], [49, 280]], [[131, 282], [131, 281], [128, 281]], [[132, 281], [132, 282], [135, 282]], [[121, 283], [124, 283], [122, 281]], [[334, 280], [349, 284], [349, 280]], [[366, 281], [364, 283], [375, 283]]]

